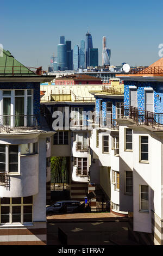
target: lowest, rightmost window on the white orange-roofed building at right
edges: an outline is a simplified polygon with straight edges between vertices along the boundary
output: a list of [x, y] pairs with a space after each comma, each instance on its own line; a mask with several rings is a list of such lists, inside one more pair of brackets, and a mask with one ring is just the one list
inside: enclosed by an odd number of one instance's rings
[[140, 185], [140, 211], [148, 212], [148, 186]]

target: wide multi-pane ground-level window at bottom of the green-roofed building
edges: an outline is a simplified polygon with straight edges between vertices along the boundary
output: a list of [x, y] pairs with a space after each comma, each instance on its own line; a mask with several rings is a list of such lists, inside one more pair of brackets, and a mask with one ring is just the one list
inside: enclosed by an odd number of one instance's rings
[[33, 197], [1, 198], [0, 223], [31, 223]]

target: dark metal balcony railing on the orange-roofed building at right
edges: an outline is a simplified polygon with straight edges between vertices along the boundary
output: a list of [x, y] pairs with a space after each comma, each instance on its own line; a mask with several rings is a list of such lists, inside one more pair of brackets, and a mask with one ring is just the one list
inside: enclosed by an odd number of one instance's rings
[[136, 125], [147, 125], [153, 129], [163, 130], [163, 113], [153, 113], [133, 106], [122, 105], [121, 118], [133, 119]]

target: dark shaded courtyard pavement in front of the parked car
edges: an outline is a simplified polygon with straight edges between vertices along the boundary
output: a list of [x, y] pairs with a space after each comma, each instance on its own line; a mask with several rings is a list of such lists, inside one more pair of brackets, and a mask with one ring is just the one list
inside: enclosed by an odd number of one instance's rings
[[137, 245], [128, 239], [128, 219], [112, 213], [47, 216], [47, 245], [61, 245], [58, 228], [68, 245]]

